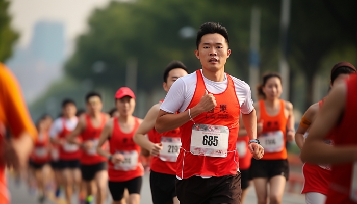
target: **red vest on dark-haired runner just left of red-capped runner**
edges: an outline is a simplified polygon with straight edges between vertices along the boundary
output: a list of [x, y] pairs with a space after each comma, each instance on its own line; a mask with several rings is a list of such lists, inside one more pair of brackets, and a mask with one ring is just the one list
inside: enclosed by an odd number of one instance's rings
[[[101, 114], [101, 124], [97, 128], [93, 127], [92, 122], [90, 121], [90, 116], [88, 114], [86, 114], [85, 117], [86, 117], [86, 130], [82, 133], [83, 142], [87, 140], [92, 140], [95, 145], [91, 150], [89, 151], [84, 150], [82, 152], [81, 164], [94, 165], [100, 162], [105, 162], [107, 161], [107, 158], [97, 154], [96, 146], [99, 142], [100, 133], [107, 122], [106, 116], [104, 113]], [[102, 148], [105, 147], [106, 145], [102, 146]]]

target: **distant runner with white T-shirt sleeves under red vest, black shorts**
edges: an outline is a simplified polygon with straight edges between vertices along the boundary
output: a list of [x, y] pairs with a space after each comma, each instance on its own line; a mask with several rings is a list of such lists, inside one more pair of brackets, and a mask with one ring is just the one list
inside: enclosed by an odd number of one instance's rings
[[59, 145], [59, 169], [61, 170], [67, 203], [71, 203], [73, 186], [79, 191], [81, 185], [80, 158], [81, 150], [79, 145], [70, 144], [66, 137], [75, 129], [78, 118], [75, 116], [77, 108], [71, 99], [62, 102], [62, 117], [55, 120], [50, 137], [52, 143]]

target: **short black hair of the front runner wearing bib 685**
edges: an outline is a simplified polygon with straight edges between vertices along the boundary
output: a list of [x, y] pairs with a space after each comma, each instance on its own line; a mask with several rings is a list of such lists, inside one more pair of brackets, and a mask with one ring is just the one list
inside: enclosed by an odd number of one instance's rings
[[227, 29], [224, 28], [221, 24], [216, 22], [205, 22], [199, 27], [199, 31], [197, 32], [197, 38], [196, 38], [197, 49], [199, 43], [201, 43], [202, 36], [210, 33], [221, 34], [225, 38], [228, 47], [230, 47], [230, 37], [228, 37]]

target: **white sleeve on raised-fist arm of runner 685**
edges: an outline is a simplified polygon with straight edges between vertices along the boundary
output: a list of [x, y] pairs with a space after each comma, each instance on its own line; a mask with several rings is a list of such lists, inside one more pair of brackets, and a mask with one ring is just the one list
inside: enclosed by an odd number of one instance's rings
[[180, 110], [185, 101], [186, 84], [179, 78], [171, 86], [160, 109], [175, 114]]

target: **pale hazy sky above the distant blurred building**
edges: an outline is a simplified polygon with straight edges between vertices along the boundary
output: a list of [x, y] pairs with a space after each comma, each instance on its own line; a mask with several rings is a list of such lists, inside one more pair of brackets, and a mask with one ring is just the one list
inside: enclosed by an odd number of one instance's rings
[[66, 41], [87, 28], [87, 18], [94, 8], [108, 5], [110, 0], [10, 0], [12, 25], [20, 32], [18, 45], [27, 46], [34, 25], [39, 20], [60, 21], [65, 24]]

